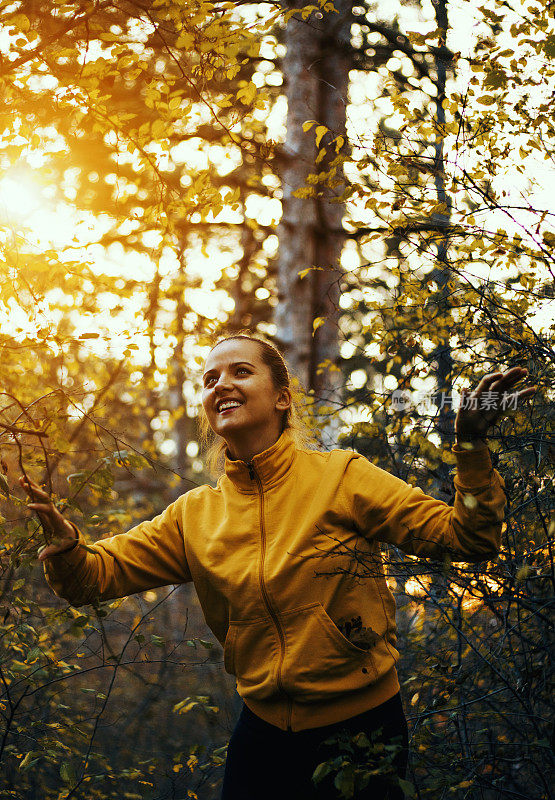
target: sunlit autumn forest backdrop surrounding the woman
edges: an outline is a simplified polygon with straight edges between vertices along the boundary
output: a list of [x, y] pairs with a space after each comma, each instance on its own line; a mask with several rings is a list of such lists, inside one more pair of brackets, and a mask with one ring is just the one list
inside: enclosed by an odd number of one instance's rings
[[490, 437], [499, 560], [386, 567], [415, 795], [550, 797], [549, 9], [1, 15], [2, 796], [218, 796], [238, 703], [191, 587], [68, 608], [17, 477], [91, 539], [210, 480], [202, 361], [249, 326], [284, 349], [323, 446], [448, 502], [453, 395], [530, 370], [533, 403]]

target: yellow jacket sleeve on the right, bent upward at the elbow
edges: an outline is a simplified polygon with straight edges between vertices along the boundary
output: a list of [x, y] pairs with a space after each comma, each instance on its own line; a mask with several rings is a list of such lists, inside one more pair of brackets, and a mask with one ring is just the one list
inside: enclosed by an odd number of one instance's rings
[[453, 506], [371, 464], [362, 456], [347, 466], [351, 508], [364, 536], [405, 553], [454, 561], [483, 561], [500, 549], [505, 482], [487, 445], [453, 447], [457, 459]]

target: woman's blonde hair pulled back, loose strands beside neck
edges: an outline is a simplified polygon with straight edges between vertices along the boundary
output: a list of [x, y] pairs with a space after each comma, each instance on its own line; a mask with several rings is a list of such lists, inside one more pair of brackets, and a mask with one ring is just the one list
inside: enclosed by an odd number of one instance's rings
[[[270, 370], [272, 381], [276, 389], [289, 389], [291, 392], [291, 405], [284, 411], [282, 417], [281, 433], [287, 430], [290, 432], [297, 447], [312, 447], [315, 445], [314, 435], [308, 425], [303, 421], [300, 408], [302, 406], [303, 393], [291, 385], [291, 376], [285, 359], [273, 344], [253, 336], [250, 333], [236, 333], [232, 336], [225, 336], [219, 339], [212, 350], [222, 342], [230, 341], [256, 342], [260, 348], [262, 362]], [[200, 427], [201, 443], [206, 450], [206, 463], [213, 475], [220, 475], [223, 472], [225, 453], [227, 444], [221, 436], [214, 433], [208, 422], [208, 417], [204, 408], [201, 408], [198, 423]]]

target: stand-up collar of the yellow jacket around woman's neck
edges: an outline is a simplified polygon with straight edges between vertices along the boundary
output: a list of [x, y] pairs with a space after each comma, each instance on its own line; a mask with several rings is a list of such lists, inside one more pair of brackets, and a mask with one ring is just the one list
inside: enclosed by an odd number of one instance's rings
[[250, 463], [234, 461], [226, 453], [225, 474], [242, 492], [258, 492], [259, 482], [263, 490], [266, 490], [286, 475], [293, 463], [295, 451], [291, 434], [284, 431], [275, 444], [254, 456]]

